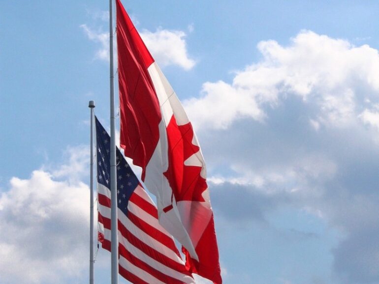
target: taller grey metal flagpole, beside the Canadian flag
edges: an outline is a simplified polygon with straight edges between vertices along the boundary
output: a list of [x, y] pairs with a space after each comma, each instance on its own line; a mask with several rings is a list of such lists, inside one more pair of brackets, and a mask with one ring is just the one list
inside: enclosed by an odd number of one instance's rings
[[113, 67], [113, 0], [109, 0], [109, 55], [110, 55], [110, 104], [111, 104], [111, 284], [119, 283], [119, 240], [117, 229], [117, 172], [115, 139], [115, 88]]

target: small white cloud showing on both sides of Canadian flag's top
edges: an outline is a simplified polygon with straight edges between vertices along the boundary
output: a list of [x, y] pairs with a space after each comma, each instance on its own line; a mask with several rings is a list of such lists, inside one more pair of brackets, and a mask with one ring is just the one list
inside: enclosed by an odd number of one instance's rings
[[[100, 45], [95, 53], [95, 59], [109, 61], [109, 34], [102, 32], [101, 29], [96, 31], [87, 25], [81, 25], [80, 28], [91, 41]], [[176, 65], [185, 70], [195, 66], [196, 61], [189, 57], [187, 51], [185, 39], [187, 35], [184, 31], [158, 28], [152, 32], [144, 29], [140, 35], [160, 66]]]

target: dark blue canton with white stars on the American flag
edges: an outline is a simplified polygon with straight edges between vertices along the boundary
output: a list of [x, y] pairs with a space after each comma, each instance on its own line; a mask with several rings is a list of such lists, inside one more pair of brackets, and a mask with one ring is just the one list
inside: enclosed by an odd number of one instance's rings
[[[97, 157], [97, 182], [110, 190], [111, 166], [110, 166], [110, 137], [102, 127], [97, 117], [96, 120], [96, 157]], [[139, 180], [130, 169], [124, 156], [116, 147], [117, 165], [117, 205], [127, 215], [127, 202], [134, 189], [138, 186]]]

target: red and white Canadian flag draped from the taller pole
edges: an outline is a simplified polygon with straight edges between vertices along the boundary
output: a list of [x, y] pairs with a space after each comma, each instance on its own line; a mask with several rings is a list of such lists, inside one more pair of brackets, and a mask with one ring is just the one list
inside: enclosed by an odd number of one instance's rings
[[120, 0], [117, 46], [120, 144], [157, 197], [159, 223], [183, 246], [190, 272], [221, 284], [206, 168], [178, 97], [147, 50]]

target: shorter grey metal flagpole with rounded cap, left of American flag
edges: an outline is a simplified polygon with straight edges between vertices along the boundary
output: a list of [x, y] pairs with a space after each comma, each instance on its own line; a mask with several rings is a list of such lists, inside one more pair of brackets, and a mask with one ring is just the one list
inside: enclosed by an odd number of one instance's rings
[[94, 108], [95, 102], [90, 101], [91, 109], [91, 162], [90, 162], [90, 284], [94, 284]]

